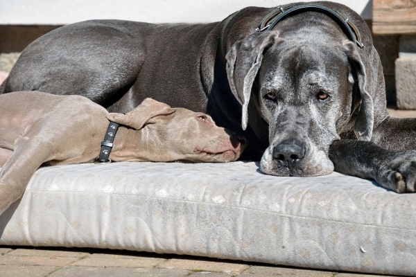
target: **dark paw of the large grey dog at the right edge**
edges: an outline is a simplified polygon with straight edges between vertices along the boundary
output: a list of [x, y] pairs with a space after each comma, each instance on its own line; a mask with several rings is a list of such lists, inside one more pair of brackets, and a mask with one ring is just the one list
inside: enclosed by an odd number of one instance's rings
[[416, 192], [416, 151], [397, 152], [381, 164], [376, 180], [396, 193]]

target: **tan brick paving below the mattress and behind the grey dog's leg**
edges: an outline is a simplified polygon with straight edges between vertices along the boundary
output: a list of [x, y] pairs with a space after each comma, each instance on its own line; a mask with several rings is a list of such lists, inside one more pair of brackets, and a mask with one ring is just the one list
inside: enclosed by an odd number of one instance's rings
[[[416, 117], [416, 111], [399, 111], [392, 107], [389, 112], [400, 117]], [[362, 277], [376, 275], [132, 251], [0, 246], [0, 277], [3, 276]]]

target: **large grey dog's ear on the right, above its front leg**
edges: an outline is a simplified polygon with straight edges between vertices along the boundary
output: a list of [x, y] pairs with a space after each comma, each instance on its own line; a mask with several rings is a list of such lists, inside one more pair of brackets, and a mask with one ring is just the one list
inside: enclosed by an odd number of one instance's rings
[[361, 96], [361, 105], [354, 125], [354, 133], [358, 140], [370, 141], [374, 127], [374, 106], [372, 96], [366, 88], [367, 75], [365, 74], [365, 66], [353, 42], [345, 41], [344, 46], [349, 64], [351, 64], [352, 71], [356, 74], [356, 82], [358, 83], [358, 90]]

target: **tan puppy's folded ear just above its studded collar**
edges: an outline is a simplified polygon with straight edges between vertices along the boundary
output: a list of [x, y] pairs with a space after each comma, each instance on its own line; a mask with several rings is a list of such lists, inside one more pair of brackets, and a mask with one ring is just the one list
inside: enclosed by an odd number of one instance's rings
[[173, 114], [174, 112], [175, 109], [172, 109], [171, 106], [153, 100], [152, 98], [146, 98], [139, 106], [132, 111], [129, 111], [127, 114], [110, 113], [107, 114], [106, 117], [112, 122], [132, 127], [133, 129], [141, 129], [148, 123], [150, 118], [155, 116], [166, 116], [168, 114]]

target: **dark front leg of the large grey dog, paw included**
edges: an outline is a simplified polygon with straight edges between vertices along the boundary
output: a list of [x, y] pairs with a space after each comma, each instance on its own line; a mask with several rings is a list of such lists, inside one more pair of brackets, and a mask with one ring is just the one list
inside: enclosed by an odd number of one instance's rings
[[416, 151], [385, 150], [369, 141], [341, 139], [329, 148], [336, 171], [373, 179], [396, 193], [416, 192]]

